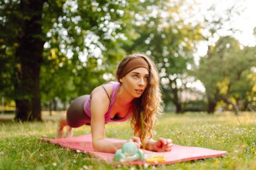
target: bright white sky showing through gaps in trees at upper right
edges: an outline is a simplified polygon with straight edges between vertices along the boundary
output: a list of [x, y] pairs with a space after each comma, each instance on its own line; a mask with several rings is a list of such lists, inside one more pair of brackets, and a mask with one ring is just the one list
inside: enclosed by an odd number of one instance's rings
[[[241, 15], [233, 16], [234, 22], [231, 23], [231, 27], [241, 30], [241, 32], [233, 34], [232, 36], [239, 40], [244, 46], [255, 46], [256, 37], [253, 36], [253, 29], [256, 27], [256, 0], [197, 0], [197, 3], [200, 3], [201, 7], [200, 14], [203, 13], [204, 15], [209, 13], [207, 9], [213, 4], [216, 5], [215, 15], [225, 15], [225, 9], [232, 6], [232, 3], [234, 2], [238, 3], [239, 9], [244, 10]], [[199, 64], [199, 58], [205, 56], [206, 52], [207, 44], [201, 42], [194, 58], [197, 65]], [[200, 81], [191, 83], [190, 87], [194, 87], [202, 92], [205, 91], [205, 87], [203, 87], [203, 84]]]

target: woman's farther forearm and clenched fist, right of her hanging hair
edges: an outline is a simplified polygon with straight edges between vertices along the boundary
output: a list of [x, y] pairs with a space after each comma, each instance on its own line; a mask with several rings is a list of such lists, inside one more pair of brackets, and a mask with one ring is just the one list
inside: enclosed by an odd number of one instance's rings
[[146, 141], [146, 149], [154, 152], [169, 152], [172, 150], [172, 140], [169, 138], [158, 138], [158, 140], [150, 138]]

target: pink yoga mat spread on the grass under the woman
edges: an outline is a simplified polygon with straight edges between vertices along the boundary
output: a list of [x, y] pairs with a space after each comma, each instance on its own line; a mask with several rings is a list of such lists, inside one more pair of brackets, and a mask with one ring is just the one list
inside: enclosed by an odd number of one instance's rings
[[[92, 148], [91, 134], [84, 135], [84, 136], [77, 136], [73, 138], [59, 138], [59, 139], [40, 138], [40, 140], [59, 144], [64, 148], [71, 148], [75, 151], [79, 150], [81, 152], [88, 153], [95, 157], [99, 157], [100, 159], [103, 159], [107, 163], [113, 163], [114, 154], [94, 152]], [[106, 140], [109, 140], [112, 142], [125, 141], [117, 138], [107, 138]], [[193, 147], [193, 146], [180, 146], [177, 144], [173, 144], [172, 151], [170, 152], [164, 152], [164, 153], [156, 153], [152, 151], [144, 151], [144, 152], [146, 155], [158, 154], [158, 155], [164, 155], [166, 157], [165, 162], [148, 163], [150, 165], [181, 163], [183, 161], [206, 159], [206, 158], [212, 158], [212, 157], [221, 157], [223, 155], [226, 155], [226, 151], [216, 151], [209, 148], [199, 148], [199, 147]], [[146, 163], [146, 161], [132, 161], [127, 164], [143, 165], [144, 163]]]

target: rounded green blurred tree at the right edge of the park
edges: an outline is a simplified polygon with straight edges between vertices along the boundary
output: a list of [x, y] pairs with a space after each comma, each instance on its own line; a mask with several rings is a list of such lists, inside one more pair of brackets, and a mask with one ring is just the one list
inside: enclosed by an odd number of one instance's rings
[[[238, 114], [238, 101], [253, 91], [255, 80], [251, 68], [255, 63], [255, 48], [240, 48], [237, 40], [222, 37], [211, 46], [207, 56], [201, 58], [195, 76], [203, 82], [209, 102], [208, 112], [213, 113], [218, 101], [232, 105]], [[254, 73], [255, 74], [255, 73]]]

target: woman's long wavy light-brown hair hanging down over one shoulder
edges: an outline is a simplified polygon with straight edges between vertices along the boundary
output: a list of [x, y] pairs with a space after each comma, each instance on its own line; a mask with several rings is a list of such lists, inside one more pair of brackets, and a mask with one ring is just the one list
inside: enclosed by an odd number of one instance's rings
[[139, 98], [133, 100], [131, 127], [134, 130], [134, 135], [139, 136], [143, 146], [145, 146], [146, 139], [152, 138], [153, 130], [156, 124], [156, 115], [162, 114], [162, 94], [160, 91], [159, 75], [154, 65], [154, 62], [146, 54], [131, 54], [125, 56], [119, 67], [117, 68], [117, 80], [120, 82], [122, 78], [123, 69], [130, 58], [141, 57], [148, 62], [149, 78], [148, 86]]

